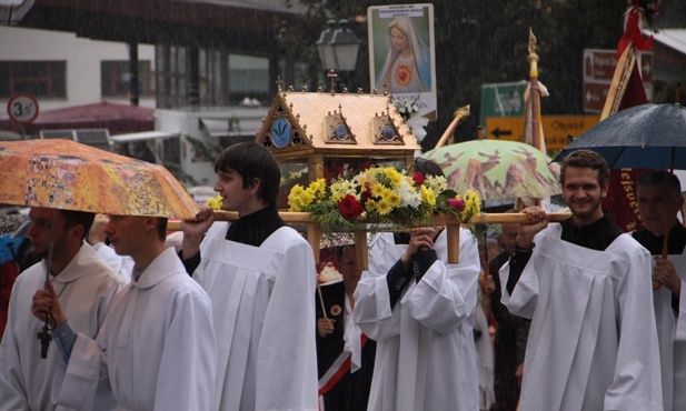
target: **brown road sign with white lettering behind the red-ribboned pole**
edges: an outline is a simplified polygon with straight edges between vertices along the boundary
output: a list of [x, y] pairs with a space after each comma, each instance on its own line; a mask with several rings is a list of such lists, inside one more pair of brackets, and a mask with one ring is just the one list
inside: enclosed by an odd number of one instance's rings
[[[639, 52], [636, 64], [640, 68], [646, 96], [652, 100], [653, 52]], [[584, 50], [584, 111], [598, 113], [603, 111], [616, 67], [616, 50]]]

